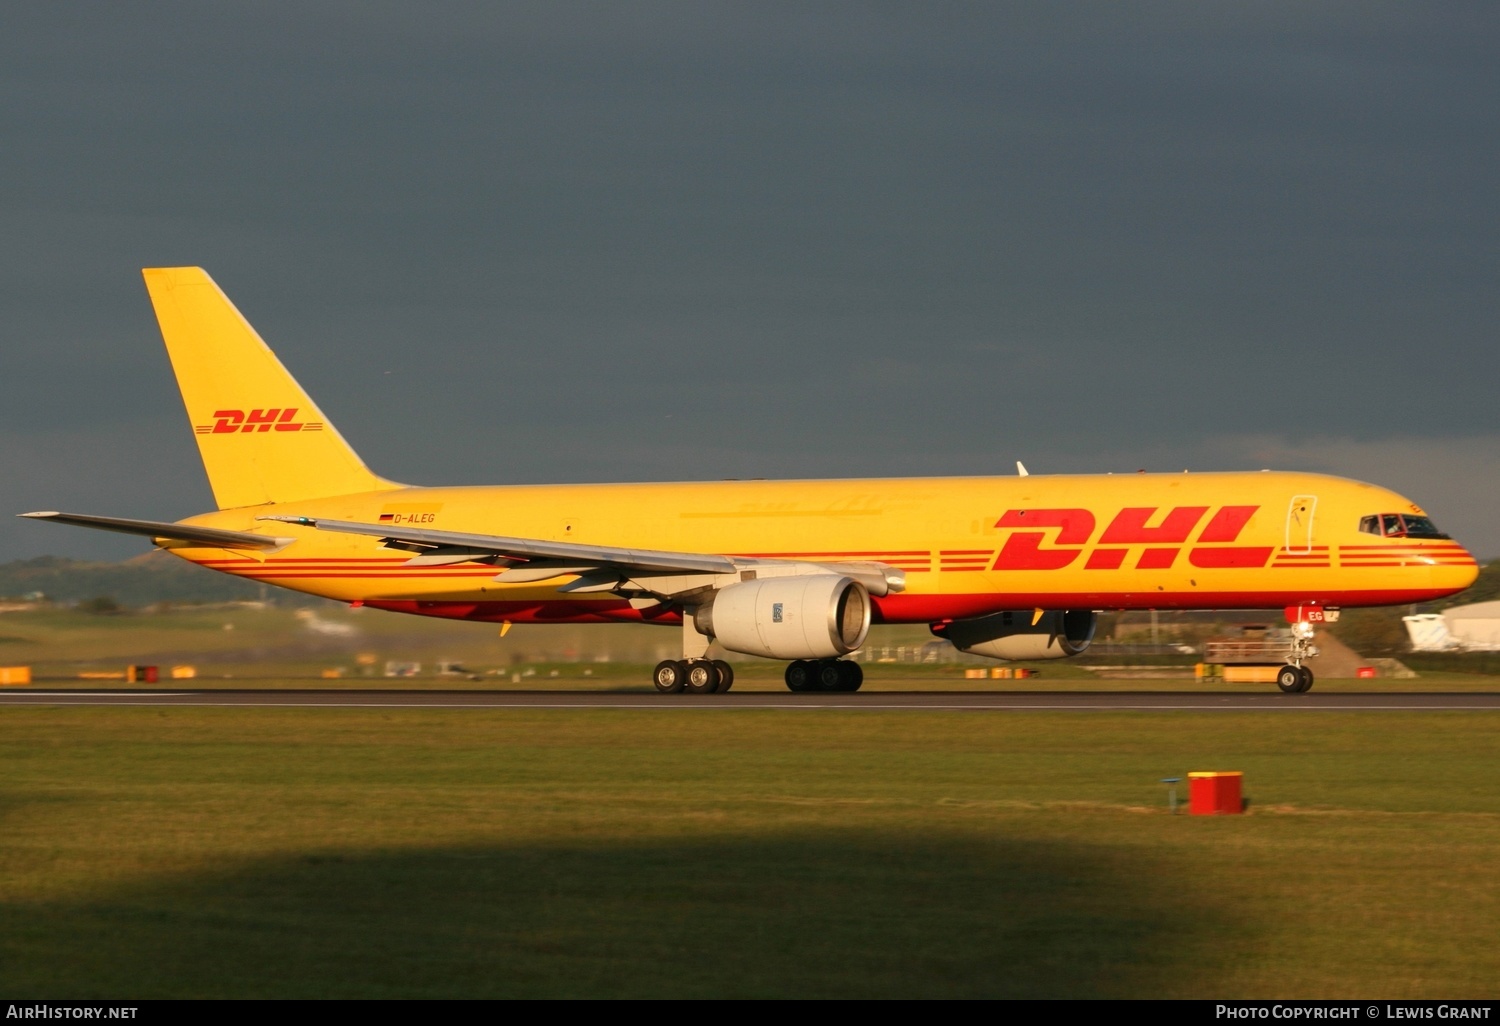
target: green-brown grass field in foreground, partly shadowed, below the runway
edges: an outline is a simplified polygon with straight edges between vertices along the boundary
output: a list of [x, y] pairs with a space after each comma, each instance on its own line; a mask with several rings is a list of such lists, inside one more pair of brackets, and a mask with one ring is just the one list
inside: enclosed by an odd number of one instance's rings
[[1492, 998], [1497, 730], [6, 708], [0, 990]]

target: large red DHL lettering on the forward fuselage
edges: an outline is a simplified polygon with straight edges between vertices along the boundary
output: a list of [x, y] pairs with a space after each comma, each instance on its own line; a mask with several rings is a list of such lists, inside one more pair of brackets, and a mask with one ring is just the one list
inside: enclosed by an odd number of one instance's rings
[[[1156, 520], [1158, 507], [1132, 506], [1120, 510], [1089, 552], [1084, 570], [1119, 570], [1130, 549], [1144, 544], [1136, 560], [1137, 570], [1167, 570], [1182, 554], [1182, 546], [1208, 514], [1208, 506], [1178, 506]], [[1204, 570], [1264, 567], [1274, 546], [1236, 546], [1258, 506], [1224, 506], [1209, 518], [1188, 549], [1188, 562]], [[1062, 570], [1083, 555], [1094, 538], [1096, 522], [1089, 510], [1006, 510], [998, 528], [1018, 528], [1005, 540], [992, 570]], [[1052, 546], [1047, 534], [1056, 531]]]

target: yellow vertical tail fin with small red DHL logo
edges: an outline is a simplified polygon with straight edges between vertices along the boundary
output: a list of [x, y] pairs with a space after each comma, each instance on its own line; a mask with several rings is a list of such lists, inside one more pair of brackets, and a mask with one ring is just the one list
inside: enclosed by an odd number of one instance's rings
[[219, 508], [400, 488], [372, 474], [200, 267], [147, 267]]

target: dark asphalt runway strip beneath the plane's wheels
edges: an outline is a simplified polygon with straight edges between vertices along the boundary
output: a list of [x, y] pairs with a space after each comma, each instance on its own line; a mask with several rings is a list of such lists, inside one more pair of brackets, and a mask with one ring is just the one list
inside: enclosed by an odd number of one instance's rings
[[849, 710], [879, 712], [1413, 712], [1497, 711], [1500, 693], [1224, 694], [1180, 692], [868, 692], [650, 694], [639, 692], [94, 690], [6, 692], [18, 705], [332, 710]]

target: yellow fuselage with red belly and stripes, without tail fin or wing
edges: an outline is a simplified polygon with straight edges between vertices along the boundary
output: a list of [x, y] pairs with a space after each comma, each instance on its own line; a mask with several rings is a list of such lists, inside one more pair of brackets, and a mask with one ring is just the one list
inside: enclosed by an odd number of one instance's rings
[[930, 477], [666, 484], [404, 488], [189, 519], [296, 537], [268, 555], [166, 543], [194, 562], [375, 608], [518, 622], [675, 622], [678, 610], [564, 580], [501, 585], [495, 567], [406, 567], [410, 552], [256, 516], [816, 562], [878, 561], [906, 590], [878, 622], [1000, 609], [1377, 606], [1460, 591], [1478, 566], [1446, 538], [1360, 531], [1420, 514], [1374, 484], [1286, 472]]

